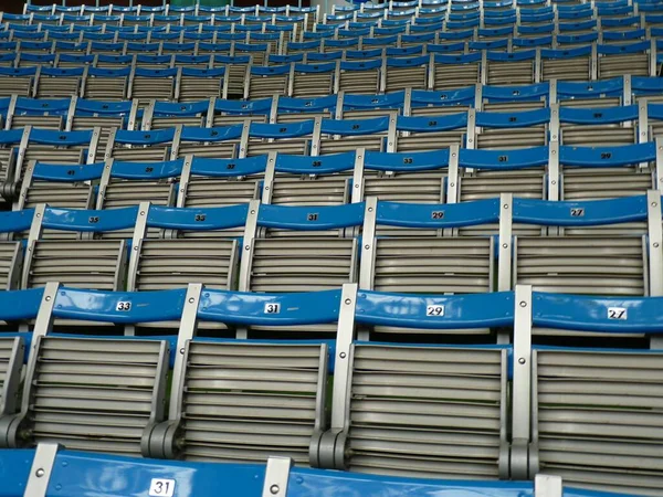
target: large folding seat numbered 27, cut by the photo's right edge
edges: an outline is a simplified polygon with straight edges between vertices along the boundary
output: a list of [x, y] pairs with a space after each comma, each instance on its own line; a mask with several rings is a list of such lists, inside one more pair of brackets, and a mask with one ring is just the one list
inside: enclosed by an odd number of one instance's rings
[[[661, 412], [662, 356], [635, 347], [607, 348], [608, 336], [629, 341], [659, 339], [660, 298], [587, 298], [533, 292], [533, 328], [522, 335], [536, 338], [545, 327], [556, 332], [582, 329], [580, 347], [533, 347], [530, 367], [514, 381], [532, 384], [526, 411], [533, 472], [560, 475], [577, 488], [655, 496], [663, 483]], [[573, 306], [561, 320], [555, 310]], [[632, 326], [631, 321], [638, 321]], [[529, 337], [527, 338], [529, 340]], [[587, 341], [599, 341], [588, 347]]]

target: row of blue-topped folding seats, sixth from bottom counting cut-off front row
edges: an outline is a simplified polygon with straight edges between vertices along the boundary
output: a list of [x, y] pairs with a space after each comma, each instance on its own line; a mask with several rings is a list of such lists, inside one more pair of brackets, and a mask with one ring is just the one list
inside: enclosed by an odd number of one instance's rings
[[[293, 88], [294, 88], [294, 78]], [[51, 82], [52, 83], [52, 82]], [[218, 82], [221, 84], [221, 82]], [[191, 84], [180, 75], [179, 86]], [[35, 83], [35, 93], [51, 93], [49, 81]], [[207, 89], [211, 89], [206, 86]], [[215, 87], [215, 86], [214, 86]], [[201, 88], [202, 89], [202, 88]], [[211, 93], [211, 92], [210, 92]], [[208, 98], [186, 102], [192, 95], [187, 92], [178, 97], [185, 102], [172, 103], [151, 99], [101, 102], [78, 98], [28, 98], [18, 95], [0, 98], [0, 116], [4, 129], [32, 125], [45, 129], [83, 129], [77, 118], [96, 116], [103, 127], [122, 129], [165, 128], [178, 124], [187, 126], [218, 127], [243, 123], [294, 123], [315, 117], [359, 119], [387, 115], [444, 116], [474, 108], [486, 112], [532, 110], [552, 104], [560, 107], [603, 108], [631, 105], [646, 99], [659, 103], [663, 93], [663, 80], [655, 77], [624, 76], [602, 82], [557, 82], [555, 80], [534, 85], [490, 86], [477, 84], [474, 88], [445, 92], [406, 89], [383, 95], [346, 94], [322, 97], [287, 97], [274, 95], [251, 101]], [[644, 112], [644, 109], [642, 109]], [[652, 113], [654, 117], [655, 113]], [[118, 118], [115, 121], [106, 120]], [[125, 119], [119, 119], [124, 117]], [[93, 126], [93, 123], [90, 123]]]

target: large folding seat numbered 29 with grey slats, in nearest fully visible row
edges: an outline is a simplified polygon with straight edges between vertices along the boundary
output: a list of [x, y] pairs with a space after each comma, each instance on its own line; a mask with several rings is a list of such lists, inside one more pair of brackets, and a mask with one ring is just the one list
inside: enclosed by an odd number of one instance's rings
[[[452, 329], [466, 340], [477, 322], [512, 326], [507, 295], [403, 296], [346, 285], [341, 300], [357, 304], [341, 305], [341, 319], [344, 311], [355, 318], [339, 326], [344, 358], [337, 352], [320, 459], [408, 478], [507, 477], [508, 433], [517, 422], [508, 412], [509, 350], [443, 346], [433, 337]], [[385, 339], [364, 341], [366, 329], [385, 325]]]

